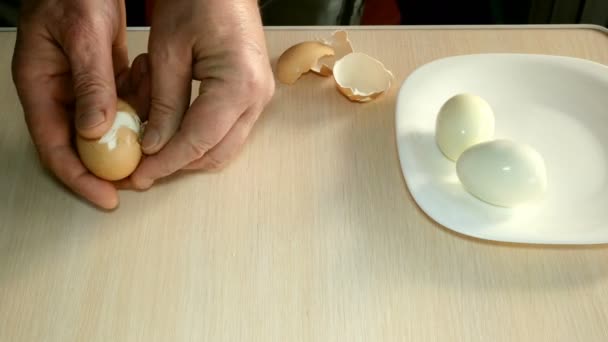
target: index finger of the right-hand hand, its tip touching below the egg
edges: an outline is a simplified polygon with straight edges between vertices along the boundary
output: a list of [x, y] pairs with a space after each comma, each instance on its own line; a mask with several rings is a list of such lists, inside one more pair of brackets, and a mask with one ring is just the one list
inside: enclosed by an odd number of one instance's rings
[[225, 87], [202, 86], [207, 90], [188, 109], [180, 131], [160, 152], [143, 160], [133, 173], [131, 179], [136, 188], [149, 188], [155, 180], [200, 159], [226, 136], [246, 110], [246, 102], [226, 97], [229, 92]]

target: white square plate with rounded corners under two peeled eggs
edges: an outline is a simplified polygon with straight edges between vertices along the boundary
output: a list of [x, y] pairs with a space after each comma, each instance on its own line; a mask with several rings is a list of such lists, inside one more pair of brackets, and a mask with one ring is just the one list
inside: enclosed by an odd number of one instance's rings
[[[441, 105], [482, 96], [496, 138], [530, 144], [544, 157], [541, 203], [498, 208], [464, 190], [434, 137]], [[608, 243], [608, 67], [560, 56], [465, 55], [440, 59], [403, 83], [396, 134], [406, 184], [439, 224], [481, 239], [540, 244]]]

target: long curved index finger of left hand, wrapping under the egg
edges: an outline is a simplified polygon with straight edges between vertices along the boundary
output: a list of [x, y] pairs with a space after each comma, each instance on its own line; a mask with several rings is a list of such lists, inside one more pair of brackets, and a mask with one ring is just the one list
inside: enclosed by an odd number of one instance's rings
[[72, 99], [68, 63], [48, 38], [19, 33], [12, 74], [28, 130], [40, 160], [70, 190], [93, 204], [118, 205], [114, 187], [88, 173], [72, 148], [72, 124], [66, 103]]

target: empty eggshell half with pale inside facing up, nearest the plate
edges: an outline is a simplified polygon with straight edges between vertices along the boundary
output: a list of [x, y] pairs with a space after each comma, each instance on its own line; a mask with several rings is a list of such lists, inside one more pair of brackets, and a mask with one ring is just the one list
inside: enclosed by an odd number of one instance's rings
[[368, 102], [391, 87], [393, 74], [373, 57], [349, 53], [337, 60], [333, 69], [340, 92], [354, 102]]

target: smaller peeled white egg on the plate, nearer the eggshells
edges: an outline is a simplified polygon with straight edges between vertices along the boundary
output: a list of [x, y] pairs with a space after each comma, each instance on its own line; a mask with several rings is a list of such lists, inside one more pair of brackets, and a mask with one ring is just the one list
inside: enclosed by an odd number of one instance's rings
[[494, 112], [481, 97], [458, 94], [441, 107], [435, 140], [443, 154], [456, 161], [467, 148], [494, 136]]

